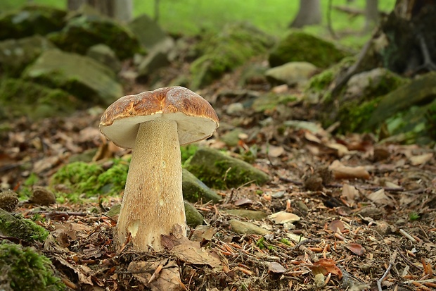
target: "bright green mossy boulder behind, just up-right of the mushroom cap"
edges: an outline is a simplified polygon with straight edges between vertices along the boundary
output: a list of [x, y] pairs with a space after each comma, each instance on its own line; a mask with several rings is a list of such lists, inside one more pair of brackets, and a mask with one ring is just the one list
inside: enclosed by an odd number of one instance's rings
[[191, 64], [191, 87], [210, 84], [248, 61], [264, 54], [274, 39], [248, 23], [226, 25], [218, 35], [207, 35], [198, 45], [201, 56]]

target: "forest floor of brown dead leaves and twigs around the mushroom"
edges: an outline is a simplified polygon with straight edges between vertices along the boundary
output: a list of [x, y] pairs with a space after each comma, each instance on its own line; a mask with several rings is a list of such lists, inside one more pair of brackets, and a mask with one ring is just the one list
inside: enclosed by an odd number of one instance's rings
[[[46, 218], [38, 223], [51, 236], [34, 247], [51, 259], [68, 287], [435, 290], [434, 149], [378, 144], [368, 134], [331, 135], [312, 123], [310, 130], [283, 127], [274, 109], [230, 116], [225, 109], [234, 100], [220, 92], [236, 88], [232, 82], [237, 77], [226, 75], [200, 94], [223, 125], [238, 123], [246, 130], [238, 146], [229, 147], [231, 154], [241, 156], [257, 147], [253, 165], [271, 181], [219, 190], [220, 204], [196, 204], [205, 225], [188, 232], [190, 240], [167, 237], [168, 251], [161, 253], [135, 252], [129, 244], [122, 250], [115, 247], [116, 217], [106, 213], [120, 203], [121, 194], [50, 207], [20, 203], [15, 212], [31, 218], [37, 211]], [[127, 93], [145, 90], [132, 84]], [[295, 102], [288, 110], [293, 119], [307, 120], [314, 109]], [[39, 176], [37, 185], [47, 186], [70, 154], [103, 147], [100, 116], [101, 111], [89, 110], [66, 118], [11, 121], [13, 130], [2, 141], [1, 187], [20, 192], [30, 173]], [[268, 117], [272, 121], [262, 123]], [[219, 128], [218, 138], [204, 144], [225, 148], [219, 136], [228, 128]], [[124, 154], [129, 151], [113, 151]], [[31, 165], [26, 171], [24, 163]], [[229, 214], [229, 209], [262, 211], [268, 218], [252, 221]], [[269, 233], [235, 233], [232, 220], [250, 221]]]

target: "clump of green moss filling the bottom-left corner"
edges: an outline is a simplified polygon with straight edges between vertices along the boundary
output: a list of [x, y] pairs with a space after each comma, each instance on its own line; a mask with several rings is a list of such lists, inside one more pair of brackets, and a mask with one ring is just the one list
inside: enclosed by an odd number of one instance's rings
[[0, 273], [1, 285], [7, 284], [12, 290], [65, 290], [65, 285], [53, 273], [51, 261], [31, 247], [2, 242]]

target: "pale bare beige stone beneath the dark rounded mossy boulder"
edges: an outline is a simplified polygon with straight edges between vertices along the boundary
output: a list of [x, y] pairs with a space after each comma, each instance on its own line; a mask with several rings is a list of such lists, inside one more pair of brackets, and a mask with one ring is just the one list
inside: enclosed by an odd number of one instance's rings
[[295, 61], [270, 68], [265, 75], [271, 85], [287, 84], [302, 86], [316, 73], [316, 66], [305, 61]]

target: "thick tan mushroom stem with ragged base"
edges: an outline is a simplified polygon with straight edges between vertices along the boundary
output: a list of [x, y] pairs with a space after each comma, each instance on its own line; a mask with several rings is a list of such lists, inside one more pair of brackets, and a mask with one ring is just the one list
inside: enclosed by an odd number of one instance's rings
[[127, 174], [117, 232], [120, 245], [130, 235], [136, 249], [163, 249], [161, 235], [180, 226], [186, 235], [181, 190], [181, 156], [174, 120], [139, 124]]

